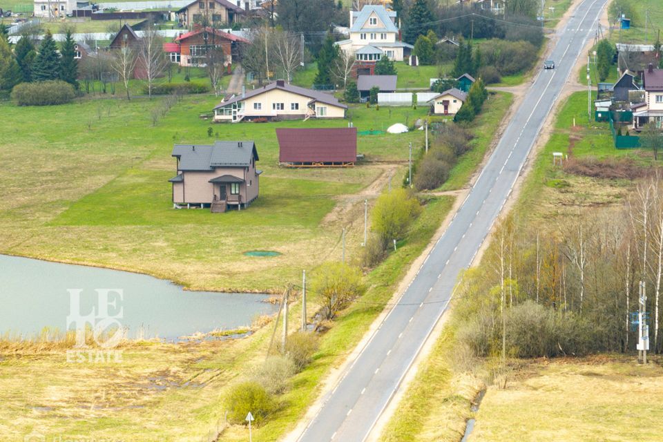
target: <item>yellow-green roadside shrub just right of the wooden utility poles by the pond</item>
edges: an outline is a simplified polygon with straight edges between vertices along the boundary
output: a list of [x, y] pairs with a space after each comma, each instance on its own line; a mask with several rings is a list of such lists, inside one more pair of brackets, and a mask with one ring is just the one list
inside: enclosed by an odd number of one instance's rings
[[359, 269], [341, 262], [327, 262], [316, 270], [312, 291], [320, 296], [326, 319], [333, 319], [352, 299], [364, 294], [361, 277]]

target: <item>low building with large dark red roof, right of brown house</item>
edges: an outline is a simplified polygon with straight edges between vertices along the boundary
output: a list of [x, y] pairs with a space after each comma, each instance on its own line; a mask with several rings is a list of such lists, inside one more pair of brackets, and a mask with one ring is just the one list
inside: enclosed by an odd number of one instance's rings
[[276, 129], [278, 161], [286, 166], [354, 166], [357, 128]]

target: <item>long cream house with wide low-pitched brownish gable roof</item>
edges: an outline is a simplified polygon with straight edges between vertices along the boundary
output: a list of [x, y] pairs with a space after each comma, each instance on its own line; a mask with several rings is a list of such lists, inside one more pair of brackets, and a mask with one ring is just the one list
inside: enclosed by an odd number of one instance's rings
[[214, 108], [214, 121], [345, 118], [346, 109], [347, 106], [338, 102], [334, 95], [276, 80], [224, 100]]

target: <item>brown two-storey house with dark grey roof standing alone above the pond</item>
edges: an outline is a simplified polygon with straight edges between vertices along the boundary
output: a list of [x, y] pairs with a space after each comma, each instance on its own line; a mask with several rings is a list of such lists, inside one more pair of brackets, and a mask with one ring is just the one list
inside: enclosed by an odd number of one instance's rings
[[224, 212], [228, 206], [245, 209], [258, 198], [258, 151], [252, 141], [217, 141], [209, 144], [175, 144], [177, 176], [173, 204], [211, 207]]

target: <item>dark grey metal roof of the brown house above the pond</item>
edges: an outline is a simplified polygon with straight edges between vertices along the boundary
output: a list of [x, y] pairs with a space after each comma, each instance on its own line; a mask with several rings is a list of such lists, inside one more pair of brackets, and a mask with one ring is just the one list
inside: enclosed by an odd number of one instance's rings
[[258, 151], [252, 141], [217, 141], [209, 144], [175, 144], [173, 157], [180, 158], [180, 171], [211, 171], [215, 167], [247, 167]]

